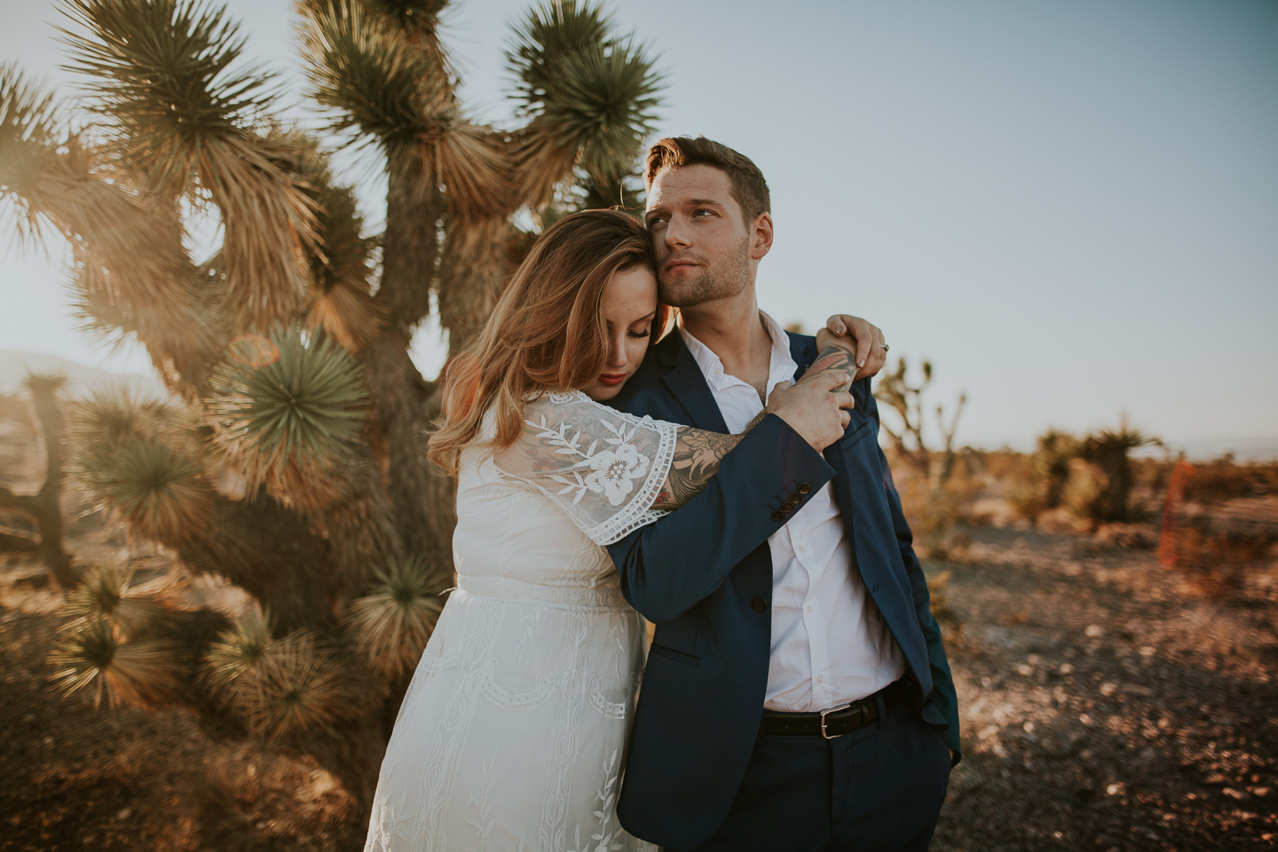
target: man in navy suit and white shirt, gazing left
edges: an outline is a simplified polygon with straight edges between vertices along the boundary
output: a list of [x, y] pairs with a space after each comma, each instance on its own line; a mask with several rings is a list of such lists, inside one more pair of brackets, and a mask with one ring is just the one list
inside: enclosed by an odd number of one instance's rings
[[[773, 231], [750, 160], [662, 139], [645, 180], [681, 321], [610, 405], [741, 432], [782, 381], [855, 372], [759, 312]], [[657, 625], [617, 806], [631, 834], [677, 851], [927, 848], [957, 701], [866, 372], [824, 457], [787, 428], [780, 447], [748, 434], [709, 488], [608, 548]]]

